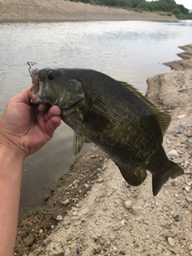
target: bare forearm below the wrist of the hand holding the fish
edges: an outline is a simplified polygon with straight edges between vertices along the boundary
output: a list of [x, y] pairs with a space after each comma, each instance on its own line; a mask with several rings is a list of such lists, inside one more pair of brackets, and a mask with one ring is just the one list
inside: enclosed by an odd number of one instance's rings
[[23, 161], [17, 148], [0, 144], [0, 256], [14, 251]]

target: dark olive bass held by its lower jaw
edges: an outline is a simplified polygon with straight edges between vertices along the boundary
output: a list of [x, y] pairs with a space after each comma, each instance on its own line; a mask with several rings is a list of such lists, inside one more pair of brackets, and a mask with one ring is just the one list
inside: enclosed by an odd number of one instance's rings
[[96, 70], [45, 68], [32, 71], [31, 103], [61, 108], [74, 130], [74, 154], [94, 142], [118, 166], [131, 186], [152, 174], [154, 196], [170, 178], [184, 174], [162, 146], [170, 125], [163, 113], [134, 86]]

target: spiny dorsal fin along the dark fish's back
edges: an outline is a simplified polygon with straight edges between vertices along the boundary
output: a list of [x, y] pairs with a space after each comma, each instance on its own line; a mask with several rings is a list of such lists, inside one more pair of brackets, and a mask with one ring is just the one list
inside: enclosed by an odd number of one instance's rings
[[142, 95], [142, 93], [138, 89], [134, 88], [134, 86], [131, 86], [126, 82], [122, 82], [122, 81], [118, 81], [118, 82], [120, 82], [122, 86], [125, 86], [128, 90], [134, 93], [134, 95], [140, 98], [142, 102], [144, 102], [147, 106], [150, 107], [150, 109], [154, 112], [154, 114], [158, 118], [159, 125], [161, 126], [161, 129], [162, 129], [162, 135], [164, 136], [166, 134], [167, 128], [170, 125], [170, 120], [171, 120], [170, 114], [160, 112], [157, 109], [157, 107], [154, 106], [153, 103], [149, 102], [148, 99], [144, 95]]

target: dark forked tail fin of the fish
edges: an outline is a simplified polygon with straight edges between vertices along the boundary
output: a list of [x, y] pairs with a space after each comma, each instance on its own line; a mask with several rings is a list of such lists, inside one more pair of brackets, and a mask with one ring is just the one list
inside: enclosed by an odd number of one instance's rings
[[162, 186], [168, 181], [169, 178], [176, 178], [182, 174], [184, 174], [182, 168], [175, 162], [170, 161], [170, 169], [166, 171], [166, 174], [162, 175], [162, 173], [160, 173], [152, 175], [154, 196], [158, 194]]

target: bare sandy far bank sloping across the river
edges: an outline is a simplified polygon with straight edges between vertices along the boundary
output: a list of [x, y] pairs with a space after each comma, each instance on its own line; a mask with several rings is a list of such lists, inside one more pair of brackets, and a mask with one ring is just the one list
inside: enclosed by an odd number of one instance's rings
[[66, 22], [66, 21], [156, 21], [177, 22], [165, 14], [134, 12], [83, 2], [58, 0], [0, 0], [0, 22]]

